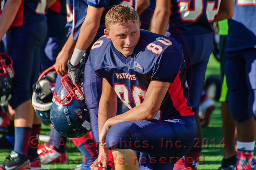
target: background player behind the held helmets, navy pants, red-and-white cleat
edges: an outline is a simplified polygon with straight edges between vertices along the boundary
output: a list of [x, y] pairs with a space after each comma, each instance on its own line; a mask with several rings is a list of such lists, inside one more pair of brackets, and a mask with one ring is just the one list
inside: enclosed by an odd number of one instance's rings
[[[65, 27], [67, 24], [66, 0], [56, 0], [54, 4], [47, 9], [46, 23], [47, 33], [40, 50], [41, 72], [53, 66], [57, 55], [68, 39], [68, 29]], [[50, 139], [49, 142], [46, 142], [38, 148], [41, 163], [47, 164], [53, 159], [56, 159], [54, 163], [58, 163], [60, 162], [60, 157], [63, 162], [67, 162], [67, 152], [65, 148], [67, 138], [62, 137], [60, 133], [51, 127]]]

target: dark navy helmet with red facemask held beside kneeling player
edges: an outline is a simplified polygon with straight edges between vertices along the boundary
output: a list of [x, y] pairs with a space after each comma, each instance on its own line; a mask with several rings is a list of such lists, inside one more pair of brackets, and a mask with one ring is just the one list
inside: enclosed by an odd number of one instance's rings
[[90, 132], [90, 115], [80, 82], [73, 85], [68, 74], [61, 78], [61, 86], [53, 94], [50, 119], [53, 127], [64, 137], [78, 138]]

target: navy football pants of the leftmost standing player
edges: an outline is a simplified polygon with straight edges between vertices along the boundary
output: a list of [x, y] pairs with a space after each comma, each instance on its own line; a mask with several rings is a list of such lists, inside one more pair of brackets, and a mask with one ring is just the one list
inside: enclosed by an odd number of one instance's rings
[[32, 85], [40, 71], [40, 46], [46, 34], [46, 22], [11, 27], [6, 33], [6, 53], [13, 59], [15, 76], [11, 92], [11, 107], [31, 100]]

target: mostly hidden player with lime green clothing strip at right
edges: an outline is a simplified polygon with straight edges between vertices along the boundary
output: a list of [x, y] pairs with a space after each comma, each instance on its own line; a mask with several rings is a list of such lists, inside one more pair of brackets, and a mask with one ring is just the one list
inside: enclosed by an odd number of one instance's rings
[[219, 101], [221, 102], [222, 114], [222, 132], [225, 139], [225, 148], [221, 167], [218, 170], [226, 170], [228, 166], [237, 162], [237, 146], [236, 146], [236, 122], [232, 118], [229, 106], [229, 91], [226, 84], [226, 75], [224, 66], [226, 63], [226, 42], [228, 35], [228, 20], [218, 22], [218, 33], [220, 35], [219, 52], [221, 66], [222, 91]]

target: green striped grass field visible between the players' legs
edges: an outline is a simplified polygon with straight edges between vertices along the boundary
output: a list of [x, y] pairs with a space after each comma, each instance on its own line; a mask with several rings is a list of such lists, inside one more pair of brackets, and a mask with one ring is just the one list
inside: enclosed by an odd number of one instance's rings
[[[211, 74], [219, 74], [219, 63], [214, 57], [210, 57], [206, 77]], [[203, 147], [198, 166], [198, 170], [217, 170], [221, 165], [222, 155], [223, 155], [223, 146], [222, 146], [222, 120], [220, 112], [220, 103], [215, 102], [216, 109], [211, 115], [211, 123], [208, 127], [203, 128]], [[41, 134], [49, 134], [50, 126], [42, 126]], [[52, 164], [52, 165], [43, 165], [42, 168], [45, 170], [71, 170], [78, 163], [81, 163], [82, 154], [79, 150], [74, 147], [75, 145], [71, 142], [67, 142], [67, 151], [68, 151], [68, 164]], [[4, 161], [5, 157], [11, 150], [5, 149], [0, 150], [0, 162]]]

